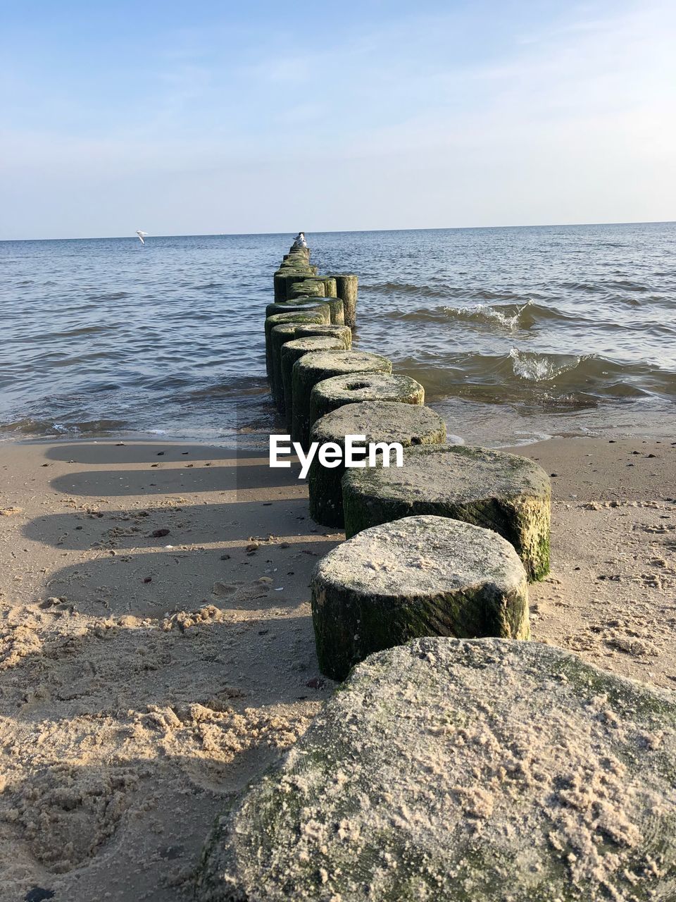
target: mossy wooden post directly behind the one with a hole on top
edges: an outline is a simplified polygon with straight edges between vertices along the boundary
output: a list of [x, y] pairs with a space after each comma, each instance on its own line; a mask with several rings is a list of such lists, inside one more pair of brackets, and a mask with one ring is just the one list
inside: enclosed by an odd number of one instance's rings
[[380, 354], [343, 351], [341, 354], [306, 354], [293, 368], [291, 438], [307, 448], [310, 440], [310, 393], [317, 382], [352, 373], [391, 373], [392, 363]]

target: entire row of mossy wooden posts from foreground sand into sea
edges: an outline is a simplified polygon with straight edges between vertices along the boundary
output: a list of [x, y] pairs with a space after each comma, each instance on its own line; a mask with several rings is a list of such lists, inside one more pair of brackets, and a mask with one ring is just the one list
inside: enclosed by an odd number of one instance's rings
[[547, 474], [446, 444], [422, 386], [352, 350], [337, 284], [299, 303], [327, 280], [295, 249], [275, 274], [270, 384], [298, 439], [404, 446], [402, 467], [309, 478], [312, 516], [347, 536], [311, 580], [319, 666], [368, 660], [216, 819], [197, 897], [674, 898], [672, 694], [512, 641], [549, 568]]

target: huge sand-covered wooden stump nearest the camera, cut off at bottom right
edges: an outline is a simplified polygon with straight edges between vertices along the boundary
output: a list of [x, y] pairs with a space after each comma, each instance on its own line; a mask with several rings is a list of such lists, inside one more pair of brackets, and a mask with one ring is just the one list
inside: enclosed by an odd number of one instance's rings
[[199, 902], [676, 897], [676, 699], [536, 642], [352, 672], [217, 821]]

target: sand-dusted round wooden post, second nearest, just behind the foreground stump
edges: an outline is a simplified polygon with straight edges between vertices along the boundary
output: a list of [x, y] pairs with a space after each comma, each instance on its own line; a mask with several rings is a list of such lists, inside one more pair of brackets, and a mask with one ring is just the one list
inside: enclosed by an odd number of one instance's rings
[[419, 636], [530, 636], [516, 551], [461, 520], [406, 517], [364, 529], [319, 561], [310, 588], [319, 669], [332, 679]]

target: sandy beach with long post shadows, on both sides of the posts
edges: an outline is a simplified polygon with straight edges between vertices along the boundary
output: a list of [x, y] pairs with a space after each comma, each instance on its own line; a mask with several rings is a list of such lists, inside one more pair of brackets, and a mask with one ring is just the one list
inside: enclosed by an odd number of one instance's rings
[[[309, 520], [296, 471], [120, 441], [0, 445], [8, 902], [183, 902], [216, 813], [332, 687], [307, 583], [342, 536]], [[556, 474], [534, 639], [674, 688], [676, 444], [515, 450]]]

